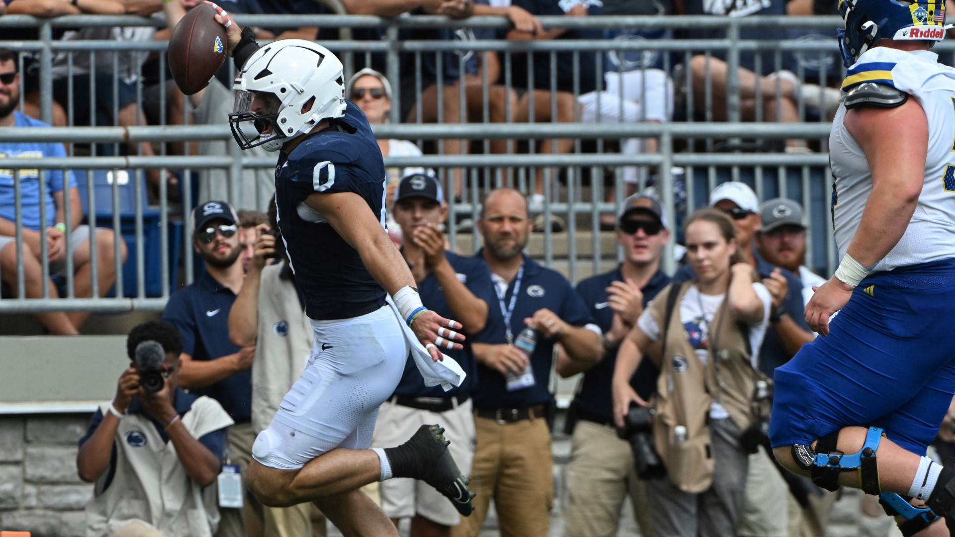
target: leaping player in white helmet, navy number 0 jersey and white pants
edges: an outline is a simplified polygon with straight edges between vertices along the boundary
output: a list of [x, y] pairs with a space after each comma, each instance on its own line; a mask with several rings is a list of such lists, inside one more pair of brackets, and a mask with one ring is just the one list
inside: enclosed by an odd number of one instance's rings
[[310, 41], [260, 47], [212, 5], [238, 69], [233, 136], [244, 149], [281, 150], [278, 223], [315, 337], [305, 371], [252, 446], [249, 489], [265, 505], [314, 502], [346, 535], [397, 535], [359, 490], [391, 478], [429, 483], [469, 515], [474, 494], [439, 426], [368, 449], [409, 352], [426, 385], [450, 389], [464, 373], [439, 348], [460, 350], [464, 336], [421, 305], [385, 231], [384, 162], [367, 118], [344, 98], [342, 63]]

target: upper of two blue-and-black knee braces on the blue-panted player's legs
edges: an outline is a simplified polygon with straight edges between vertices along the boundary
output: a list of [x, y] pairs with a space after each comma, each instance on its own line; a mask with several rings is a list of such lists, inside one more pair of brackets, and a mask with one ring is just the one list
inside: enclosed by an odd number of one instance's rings
[[806, 444], [793, 444], [793, 459], [800, 468], [809, 470], [813, 483], [831, 491], [838, 489], [839, 472], [859, 470], [859, 488], [866, 494], [878, 496], [881, 493], [881, 487], [879, 467], [876, 465], [876, 450], [879, 449], [881, 438], [880, 428], [869, 427], [862, 448], [857, 453], [846, 455], [836, 447], [838, 442], [838, 431], [836, 431], [817, 440], [818, 453]]

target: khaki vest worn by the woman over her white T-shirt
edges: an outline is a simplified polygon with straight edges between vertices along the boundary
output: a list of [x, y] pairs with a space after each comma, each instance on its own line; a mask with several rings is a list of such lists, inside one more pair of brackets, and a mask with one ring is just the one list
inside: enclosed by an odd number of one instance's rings
[[[684, 333], [680, 302], [695, 281], [685, 282], [678, 291], [668, 320], [667, 341], [660, 364], [655, 398], [656, 414], [653, 440], [667, 466], [669, 480], [681, 490], [703, 492], [712, 483], [712, 446], [710, 406], [719, 402], [740, 431], [757, 418], [753, 394], [757, 379], [765, 379], [753, 369], [747, 351], [748, 335], [727, 312], [724, 300], [710, 325], [710, 359], [703, 364]], [[663, 327], [671, 286], [661, 290], [650, 314]], [[661, 330], [661, 333], [663, 331]], [[677, 442], [673, 429], [687, 428], [687, 440]]]

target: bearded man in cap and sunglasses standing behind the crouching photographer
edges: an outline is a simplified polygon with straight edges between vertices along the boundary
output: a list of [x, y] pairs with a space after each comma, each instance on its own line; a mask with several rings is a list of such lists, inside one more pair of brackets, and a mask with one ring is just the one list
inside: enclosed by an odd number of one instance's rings
[[[254, 345], [239, 348], [229, 341], [228, 317], [236, 295], [242, 289], [244, 271], [239, 263], [239, 218], [226, 202], [205, 202], [192, 211], [193, 248], [205, 261], [205, 271], [192, 285], [173, 293], [162, 311], [162, 319], [182, 334], [180, 385], [194, 394], [207, 395], [222, 403], [235, 421], [229, 427], [225, 462], [238, 464], [244, 478], [251, 459], [252, 382], [249, 370]], [[246, 520], [254, 520], [251, 494], [244, 495]], [[243, 513], [224, 508], [217, 535], [240, 537]]]

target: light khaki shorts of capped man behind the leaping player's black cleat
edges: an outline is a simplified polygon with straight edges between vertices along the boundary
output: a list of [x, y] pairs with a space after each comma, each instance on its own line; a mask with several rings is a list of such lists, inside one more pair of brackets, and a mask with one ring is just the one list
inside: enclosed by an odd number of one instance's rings
[[[412, 438], [421, 425], [444, 427], [451, 440], [448, 449], [457, 467], [470, 474], [475, 454], [475, 419], [468, 399], [445, 412], [429, 412], [385, 401], [378, 410], [372, 447], [393, 447]], [[457, 509], [433, 486], [413, 479], [392, 479], [380, 483], [381, 509], [388, 518], [402, 519], [420, 515], [443, 526], [456, 526], [461, 517]]]

